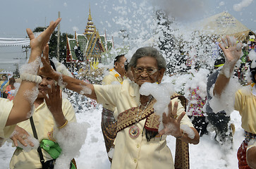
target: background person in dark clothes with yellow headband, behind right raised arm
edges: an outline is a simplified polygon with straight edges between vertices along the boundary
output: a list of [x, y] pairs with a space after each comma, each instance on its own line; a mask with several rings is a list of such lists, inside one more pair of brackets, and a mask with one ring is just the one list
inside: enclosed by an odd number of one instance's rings
[[221, 145], [231, 146], [231, 143], [233, 142], [233, 135], [231, 127], [228, 125], [230, 116], [226, 115], [225, 111], [219, 111], [215, 113], [209, 105], [209, 101], [212, 99], [210, 90], [212, 89], [213, 84], [216, 82], [219, 71], [221, 70], [221, 67], [224, 65], [224, 63], [225, 58], [218, 58], [214, 62], [214, 72], [207, 78], [206, 113], [207, 120], [209, 120], [209, 123], [213, 125], [216, 132], [214, 139], [216, 139], [217, 142], [219, 142]]

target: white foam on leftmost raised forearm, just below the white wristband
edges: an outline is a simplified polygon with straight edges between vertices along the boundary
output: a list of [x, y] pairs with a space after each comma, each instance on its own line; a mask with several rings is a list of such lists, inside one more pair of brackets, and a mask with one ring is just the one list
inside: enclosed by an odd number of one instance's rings
[[35, 99], [37, 99], [38, 94], [39, 94], [38, 84], [35, 85], [35, 87], [33, 87], [31, 90], [26, 90], [24, 92], [25, 99], [28, 100], [31, 106], [30, 112], [28, 112], [27, 118], [30, 118], [34, 113], [34, 110], [35, 110], [34, 102], [35, 102]]

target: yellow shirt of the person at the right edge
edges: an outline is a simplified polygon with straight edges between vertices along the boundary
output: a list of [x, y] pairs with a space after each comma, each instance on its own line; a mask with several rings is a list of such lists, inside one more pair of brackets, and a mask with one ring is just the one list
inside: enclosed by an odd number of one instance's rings
[[235, 110], [239, 111], [241, 115], [243, 130], [256, 134], [256, 96], [238, 90], [236, 92]]

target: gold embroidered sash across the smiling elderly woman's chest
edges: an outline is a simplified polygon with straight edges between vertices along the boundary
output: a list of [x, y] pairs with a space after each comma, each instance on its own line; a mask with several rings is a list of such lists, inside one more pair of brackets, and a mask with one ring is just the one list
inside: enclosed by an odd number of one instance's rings
[[159, 115], [154, 114], [153, 106], [154, 106], [154, 103], [156, 102], [157, 102], [156, 99], [153, 99], [152, 101], [150, 101], [150, 104], [147, 106], [147, 108], [145, 108], [144, 111], [142, 111], [138, 106], [138, 107], [129, 108], [128, 110], [120, 113], [118, 115], [118, 120], [117, 120], [117, 132], [125, 129], [126, 127], [134, 125], [138, 121], [143, 120], [145, 118], [147, 118], [145, 123], [145, 128], [147, 130], [152, 130], [157, 132], [160, 123], [159, 123]]

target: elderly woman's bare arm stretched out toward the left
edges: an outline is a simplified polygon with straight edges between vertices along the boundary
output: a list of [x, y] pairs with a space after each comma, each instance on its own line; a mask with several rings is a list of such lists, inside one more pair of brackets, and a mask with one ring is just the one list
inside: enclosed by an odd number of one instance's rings
[[51, 77], [52, 79], [56, 80], [58, 83], [63, 83], [66, 88], [71, 89], [79, 94], [83, 94], [91, 99], [97, 99], [95, 94], [95, 88], [92, 84], [83, 82], [82, 80], [75, 79], [74, 77], [70, 77], [67, 75], [61, 75], [57, 73], [51, 65], [49, 64], [49, 57], [47, 54], [42, 57], [42, 63], [44, 65], [43, 68], [40, 68], [40, 73], [47, 77]]

